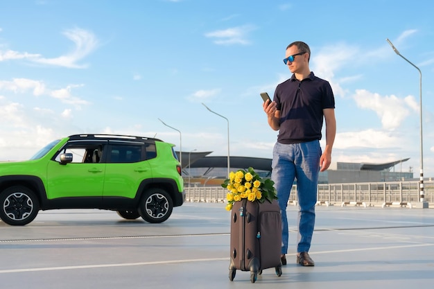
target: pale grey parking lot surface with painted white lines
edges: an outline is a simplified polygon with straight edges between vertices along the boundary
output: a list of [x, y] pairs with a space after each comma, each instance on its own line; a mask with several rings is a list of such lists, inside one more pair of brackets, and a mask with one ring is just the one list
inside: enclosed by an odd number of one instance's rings
[[1, 288], [431, 288], [434, 209], [317, 207], [315, 267], [295, 264], [296, 207], [277, 277], [263, 270], [229, 281], [229, 212], [185, 203], [149, 224], [100, 210], [41, 211], [31, 224], [0, 222]]

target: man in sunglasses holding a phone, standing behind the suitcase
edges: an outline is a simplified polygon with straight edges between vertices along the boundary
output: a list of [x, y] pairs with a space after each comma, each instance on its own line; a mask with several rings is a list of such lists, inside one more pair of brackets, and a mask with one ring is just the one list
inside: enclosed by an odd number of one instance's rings
[[[273, 149], [271, 178], [275, 182], [282, 218], [281, 261], [288, 253], [288, 218], [286, 207], [294, 180], [299, 204], [297, 263], [314, 266], [309, 256], [319, 172], [331, 164], [331, 149], [336, 135], [335, 100], [329, 82], [316, 77], [309, 69], [311, 49], [304, 42], [286, 48], [284, 63], [293, 75], [277, 85], [273, 101], [266, 100], [263, 110], [268, 124], [279, 130]], [[325, 119], [326, 146], [320, 147]]]

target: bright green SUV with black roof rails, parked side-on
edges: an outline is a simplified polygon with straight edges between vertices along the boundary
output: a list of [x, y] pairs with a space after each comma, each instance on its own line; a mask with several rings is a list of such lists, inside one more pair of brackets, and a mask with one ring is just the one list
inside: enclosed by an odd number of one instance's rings
[[184, 199], [173, 144], [159, 139], [75, 134], [28, 161], [0, 163], [0, 218], [9, 225], [49, 209], [106, 209], [158, 223]]

